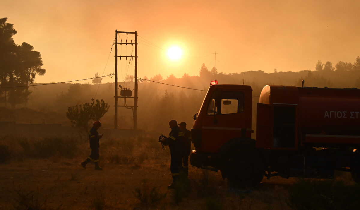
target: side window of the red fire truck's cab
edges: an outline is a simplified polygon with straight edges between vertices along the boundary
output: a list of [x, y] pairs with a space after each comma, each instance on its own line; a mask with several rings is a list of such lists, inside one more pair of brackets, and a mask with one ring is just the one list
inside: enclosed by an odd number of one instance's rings
[[221, 102], [215, 103], [215, 93], [212, 94], [207, 107], [207, 115], [232, 114], [244, 111], [244, 93], [237, 91], [222, 91]]

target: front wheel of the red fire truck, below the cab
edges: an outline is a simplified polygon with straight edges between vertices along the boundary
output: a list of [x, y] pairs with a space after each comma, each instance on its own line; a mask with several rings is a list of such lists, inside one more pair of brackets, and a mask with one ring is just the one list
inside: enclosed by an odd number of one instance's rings
[[230, 187], [256, 187], [264, 177], [264, 164], [254, 149], [243, 148], [229, 153], [220, 171]]

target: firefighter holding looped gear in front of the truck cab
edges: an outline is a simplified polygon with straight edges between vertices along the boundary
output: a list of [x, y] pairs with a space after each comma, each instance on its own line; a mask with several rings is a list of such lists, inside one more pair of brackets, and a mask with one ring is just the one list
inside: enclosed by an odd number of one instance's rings
[[169, 146], [170, 148], [170, 171], [172, 175], [172, 184], [169, 185], [168, 189], [175, 188], [175, 182], [179, 179], [179, 173], [181, 169], [181, 162], [183, 160], [184, 153], [184, 133], [180, 130], [179, 126], [177, 126], [176, 120], [170, 120], [169, 127], [171, 131], [169, 133], [169, 137], [164, 138], [161, 142], [165, 146]]

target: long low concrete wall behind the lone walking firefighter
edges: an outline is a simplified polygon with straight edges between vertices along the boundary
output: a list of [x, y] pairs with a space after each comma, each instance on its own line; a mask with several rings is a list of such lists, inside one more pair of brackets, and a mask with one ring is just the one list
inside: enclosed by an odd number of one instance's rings
[[[144, 135], [145, 130], [100, 128], [99, 133], [104, 133], [103, 138], [121, 138]], [[5, 135], [27, 138], [88, 138], [88, 134], [84, 129], [64, 127], [60, 124], [17, 124], [16, 122], [0, 122], [0, 136]]]

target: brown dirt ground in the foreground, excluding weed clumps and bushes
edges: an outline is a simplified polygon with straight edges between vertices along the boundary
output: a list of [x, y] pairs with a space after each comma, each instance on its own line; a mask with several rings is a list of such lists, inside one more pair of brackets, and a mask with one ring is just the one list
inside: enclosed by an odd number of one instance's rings
[[[256, 189], [230, 192], [221, 174], [189, 168], [191, 192], [178, 205], [174, 190], [168, 190], [172, 178], [169, 165], [100, 164], [103, 171], [86, 169], [81, 160], [29, 159], [0, 165], [0, 209], [291, 209], [287, 205], [287, 188], [294, 178], [266, 178]], [[203, 197], [194, 188], [202, 176], [219, 195]], [[200, 181], [199, 181], [200, 182]], [[155, 205], [141, 203], [136, 189], [156, 187], [165, 197]], [[221, 204], [221, 207], [216, 205]], [[210, 206], [209, 206], [210, 205]], [[215, 206], [214, 206], [215, 205]], [[211, 207], [212, 206], [212, 207]]]

